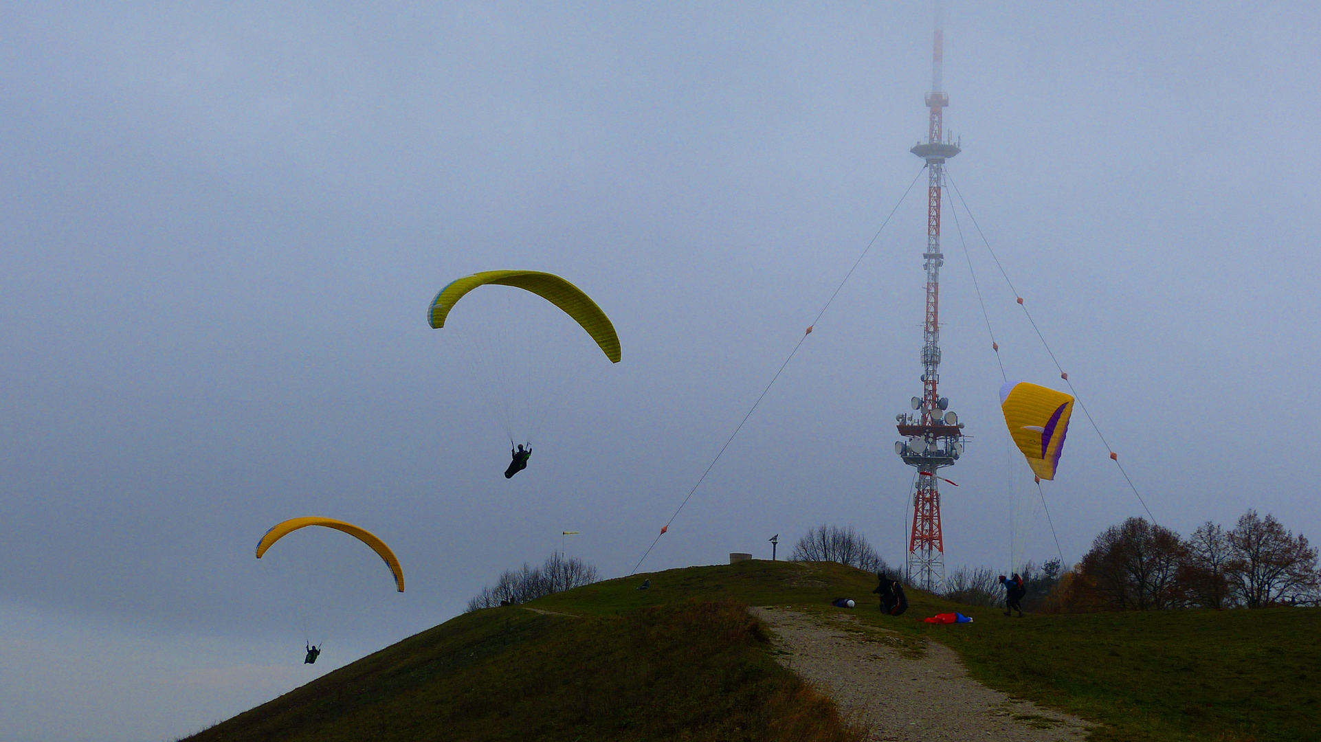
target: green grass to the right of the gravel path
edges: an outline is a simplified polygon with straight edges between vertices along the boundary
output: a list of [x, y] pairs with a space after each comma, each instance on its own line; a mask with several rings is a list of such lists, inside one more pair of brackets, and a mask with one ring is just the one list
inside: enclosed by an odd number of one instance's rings
[[987, 684], [1111, 725], [1099, 739], [1321, 739], [1318, 609], [992, 614], [930, 632]]

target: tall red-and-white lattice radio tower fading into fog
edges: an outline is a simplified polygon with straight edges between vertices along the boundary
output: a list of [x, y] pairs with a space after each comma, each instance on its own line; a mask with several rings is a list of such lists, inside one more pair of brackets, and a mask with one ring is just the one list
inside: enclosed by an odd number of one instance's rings
[[915, 412], [900, 413], [900, 436], [905, 441], [894, 444], [894, 452], [904, 463], [918, 470], [917, 492], [913, 496], [913, 529], [909, 532], [908, 582], [925, 590], [938, 590], [945, 582], [945, 540], [941, 535], [941, 478], [939, 469], [954, 466], [963, 453], [963, 425], [958, 415], [946, 412], [950, 400], [937, 391], [941, 380], [941, 186], [945, 161], [959, 153], [959, 147], [945, 135], [942, 111], [950, 96], [941, 91], [941, 66], [945, 34], [941, 22], [941, 4], [935, 4], [935, 37], [931, 70], [931, 92], [926, 106], [931, 110], [926, 143], [918, 143], [910, 152], [926, 160], [926, 318], [922, 326], [922, 396], [913, 397]]

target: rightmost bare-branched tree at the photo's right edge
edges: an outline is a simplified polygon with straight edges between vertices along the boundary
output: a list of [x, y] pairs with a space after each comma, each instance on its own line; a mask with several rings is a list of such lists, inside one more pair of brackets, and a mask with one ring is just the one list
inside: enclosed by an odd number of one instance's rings
[[1318, 588], [1317, 549], [1267, 514], [1250, 510], [1227, 535], [1232, 556], [1225, 574], [1235, 597], [1251, 609], [1309, 597]]

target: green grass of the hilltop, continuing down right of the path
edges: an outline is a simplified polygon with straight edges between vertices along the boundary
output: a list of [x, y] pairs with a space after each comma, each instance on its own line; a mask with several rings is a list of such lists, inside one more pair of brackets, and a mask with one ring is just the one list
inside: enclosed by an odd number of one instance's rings
[[[642, 577], [653, 589], [638, 591]], [[835, 564], [753, 561], [612, 580], [536, 605], [600, 614], [725, 595], [836, 611], [952, 647], [978, 680], [1099, 722], [1096, 741], [1321, 741], [1321, 609], [1104, 613], [1005, 618], [909, 590], [900, 618], [876, 610], [876, 577]], [[974, 623], [927, 624], [960, 610]]]

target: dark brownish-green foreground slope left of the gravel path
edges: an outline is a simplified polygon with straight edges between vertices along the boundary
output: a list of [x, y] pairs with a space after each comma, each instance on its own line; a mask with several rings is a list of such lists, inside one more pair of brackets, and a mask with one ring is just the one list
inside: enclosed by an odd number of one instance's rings
[[213, 726], [202, 741], [855, 742], [745, 606], [466, 614]]

